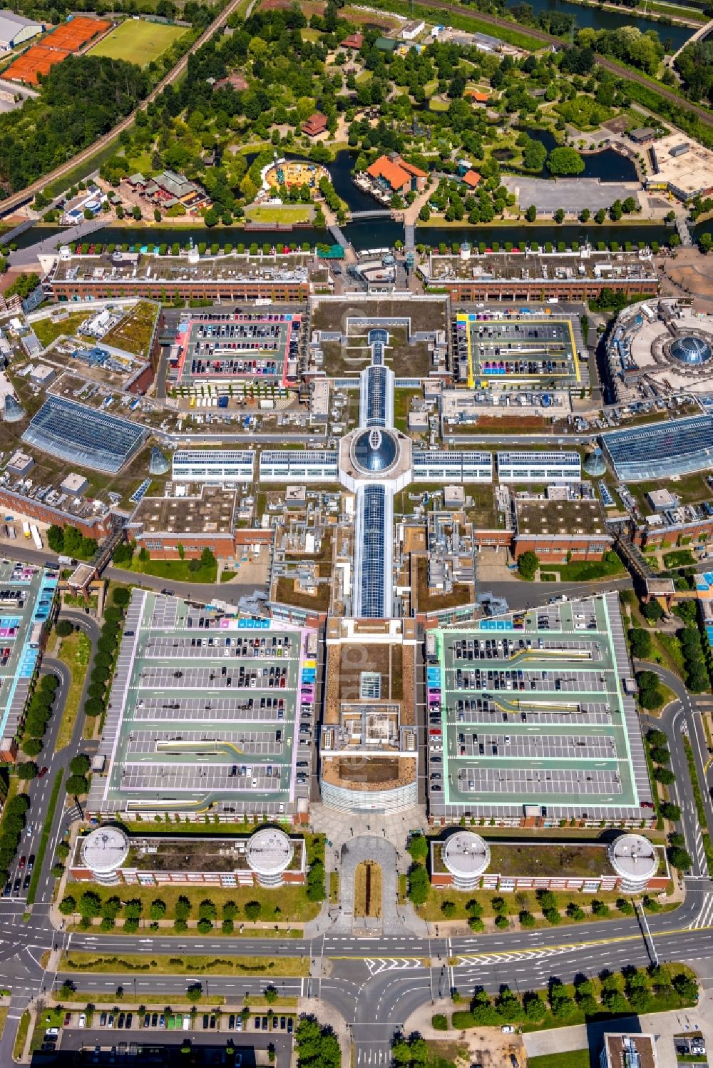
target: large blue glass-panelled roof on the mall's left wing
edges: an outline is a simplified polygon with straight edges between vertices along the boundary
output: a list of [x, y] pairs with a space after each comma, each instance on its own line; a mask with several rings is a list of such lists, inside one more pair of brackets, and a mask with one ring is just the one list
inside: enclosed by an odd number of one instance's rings
[[60, 459], [115, 473], [146, 439], [127, 420], [64, 397], [49, 396], [33, 417], [22, 441]]

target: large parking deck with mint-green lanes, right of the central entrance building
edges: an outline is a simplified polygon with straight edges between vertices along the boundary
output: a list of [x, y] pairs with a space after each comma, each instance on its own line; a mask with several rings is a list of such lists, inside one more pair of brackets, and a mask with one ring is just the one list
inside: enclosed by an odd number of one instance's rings
[[[444, 629], [437, 641], [441, 728], [433, 709], [429, 717], [437, 816], [651, 818], [615, 594]], [[434, 678], [431, 666], [429, 685]]]

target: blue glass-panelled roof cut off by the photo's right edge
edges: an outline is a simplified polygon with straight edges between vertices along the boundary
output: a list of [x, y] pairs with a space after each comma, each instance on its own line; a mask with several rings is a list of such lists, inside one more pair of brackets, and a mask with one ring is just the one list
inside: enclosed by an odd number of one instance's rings
[[713, 468], [713, 415], [691, 415], [602, 435], [622, 482], [668, 478]]

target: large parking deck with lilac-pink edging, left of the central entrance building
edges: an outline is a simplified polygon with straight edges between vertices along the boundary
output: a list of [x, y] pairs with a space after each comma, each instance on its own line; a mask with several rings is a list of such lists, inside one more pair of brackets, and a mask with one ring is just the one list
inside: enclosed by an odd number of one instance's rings
[[304, 642], [299, 628], [134, 591], [90, 811], [291, 812], [306, 794], [296, 789]]

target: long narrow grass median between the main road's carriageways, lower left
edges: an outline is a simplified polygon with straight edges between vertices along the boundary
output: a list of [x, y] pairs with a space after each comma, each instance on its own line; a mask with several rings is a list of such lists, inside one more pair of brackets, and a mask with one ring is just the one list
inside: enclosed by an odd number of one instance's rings
[[308, 975], [307, 957], [213, 957], [207, 955], [169, 957], [161, 954], [126, 953], [97, 956], [95, 953], [62, 955], [63, 971], [77, 972], [154, 972], [157, 975]]

